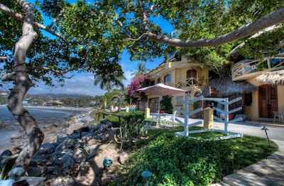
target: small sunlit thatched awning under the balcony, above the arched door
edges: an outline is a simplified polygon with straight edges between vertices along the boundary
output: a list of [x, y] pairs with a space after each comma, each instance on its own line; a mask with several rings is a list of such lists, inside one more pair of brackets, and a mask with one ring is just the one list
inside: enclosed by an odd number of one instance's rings
[[256, 77], [256, 81], [266, 84], [284, 84], [284, 70], [268, 71]]

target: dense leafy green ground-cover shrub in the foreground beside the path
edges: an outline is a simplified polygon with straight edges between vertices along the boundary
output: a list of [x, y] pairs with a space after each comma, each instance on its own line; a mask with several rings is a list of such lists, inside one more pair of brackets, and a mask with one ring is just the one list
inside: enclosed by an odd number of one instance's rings
[[[116, 173], [114, 182], [116, 185], [143, 185], [145, 180], [141, 173], [146, 168], [153, 173], [149, 185], [209, 185], [219, 182], [222, 176], [244, 165], [246, 160], [241, 141], [247, 142], [248, 139], [200, 141], [170, 133], [160, 134], [148, 139], [148, 145], [129, 156], [127, 163]], [[258, 144], [258, 141], [265, 140], [253, 139], [253, 143]], [[267, 144], [256, 146], [259, 154], [268, 150], [264, 147]], [[269, 152], [274, 150], [275, 146]]]

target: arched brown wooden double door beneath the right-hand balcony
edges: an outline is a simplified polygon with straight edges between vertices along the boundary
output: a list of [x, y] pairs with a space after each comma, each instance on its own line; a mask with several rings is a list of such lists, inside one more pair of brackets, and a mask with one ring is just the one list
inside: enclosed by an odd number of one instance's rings
[[264, 85], [259, 87], [259, 117], [273, 118], [278, 111], [277, 87]]

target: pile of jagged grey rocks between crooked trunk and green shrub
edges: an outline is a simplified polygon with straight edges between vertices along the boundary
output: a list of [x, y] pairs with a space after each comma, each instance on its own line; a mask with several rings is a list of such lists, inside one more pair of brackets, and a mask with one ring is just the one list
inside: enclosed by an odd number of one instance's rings
[[[50, 134], [28, 166], [28, 176], [45, 177], [45, 185], [104, 185], [112, 170], [124, 164], [129, 153], [117, 148], [111, 122], [88, 124], [88, 115], [72, 119], [69, 127]], [[56, 130], [55, 130], [56, 132]], [[21, 135], [15, 134], [13, 140]], [[103, 161], [112, 161], [104, 170]]]

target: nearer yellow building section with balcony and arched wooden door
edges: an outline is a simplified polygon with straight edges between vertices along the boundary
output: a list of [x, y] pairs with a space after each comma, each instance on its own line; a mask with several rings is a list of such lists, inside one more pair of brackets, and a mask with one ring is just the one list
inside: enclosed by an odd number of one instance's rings
[[[272, 120], [273, 111], [284, 114], [284, 86], [268, 84], [266, 81], [260, 83], [257, 77], [269, 71], [280, 71], [283, 69], [284, 52], [275, 57], [266, 57], [261, 62], [258, 60], [244, 60], [234, 64], [231, 69], [233, 81], [248, 81], [257, 86], [257, 91], [251, 95], [251, 105], [246, 105], [244, 114], [253, 120]], [[269, 76], [267, 77], [269, 79]]]

